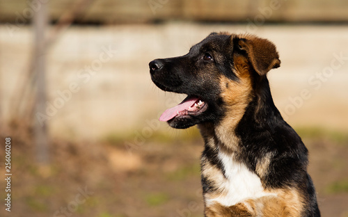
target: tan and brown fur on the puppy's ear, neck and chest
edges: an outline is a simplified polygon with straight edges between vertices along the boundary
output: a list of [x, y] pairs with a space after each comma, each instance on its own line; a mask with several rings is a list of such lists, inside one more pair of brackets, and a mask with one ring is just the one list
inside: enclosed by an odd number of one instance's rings
[[[228, 33], [221, 33], [228, 34]], [[239, 152], [239, 138], [235, 135], [235, 127], [242, 119], [246, 106], [251, 102], [253, 97], [253, 77], [251, 75], [251, 67], [260, 75], [266, 74], [271, 68], [278, 67], [280, 61], [276, 47], [261, 38], [253, 35], [237, 35], [245, 40], [239, 41], [241, 49], [246, 50], [248, 56], [234, 55], [235, 74], [239, 78], [238, 81], [232, 81], [224, 76], [220, 78], [221, 98], [224, 106], [226, 106], [226, 117], [221, 120], [218, 126], [212, 124], [199, 124], [200, 132], [207, 138], [210, 147], [219, 148], [220, 152], [226, 152], [231, 157]], [[258, 63], [258, 61], [260, 63]], [[219, 141], [214, 140], [214, 136]], [[267, 175], [269, 164], [271, 163], [271, 154], [264, 156], [256, 163], [255, 172], [262, 178]], [[218, 198], [226, 195], [223, 186], [226, 178], [222, 171], [216, 166], [212, 166], [207, 159], [201, 159], [202, 175], [207, 177], [210, 182], [218, 189], [204, 195], [205, 199]], [[286, 189], [264, 189], [267, 195], [262, 198], [250, 198], [239, 202], [233, 206], [225, 207], [219, 202], [205, 204], [205, 216], [207, 217], [294, 217], [301, 216], [303, 210], [303, 202], [305, 201], [299, 191], [295, 188]], [[206, 200], [207, 201], [207, 200]]]

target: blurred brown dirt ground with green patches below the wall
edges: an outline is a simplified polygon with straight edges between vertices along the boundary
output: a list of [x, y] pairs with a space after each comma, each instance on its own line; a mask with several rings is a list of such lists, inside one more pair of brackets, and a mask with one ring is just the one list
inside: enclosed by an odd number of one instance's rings
[[[299, 130], [310, 152], [309, 172], [322, 216], [348, 216], [348, 137]], [[203, 216], [196, 129], [176, 136], [70, 143], [52, 140], [49, 166], [35, 164], [30, 133], [12, 138], [12, 211], [0, 216]], [[193, 136], [192, 136], [193, 135]], [[2, 135], [0, 140], [4, 141]], [[0, 159], [4, 159], [0, 152]], [[1, 198], [5, 196], [0, 179]]]

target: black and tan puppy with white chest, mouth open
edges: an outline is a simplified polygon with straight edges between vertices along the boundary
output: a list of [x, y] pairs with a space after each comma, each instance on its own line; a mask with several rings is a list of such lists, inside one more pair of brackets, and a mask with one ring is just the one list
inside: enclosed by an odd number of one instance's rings
[[159, 120], [197, 125], [205, 141], [205, 216], [320, 216], [308, 150], [271, 97], [267, 72], [280, 67], [272, 42], [211, 33], [188, 54], [149, 66], [158, 88], [187, 95]]

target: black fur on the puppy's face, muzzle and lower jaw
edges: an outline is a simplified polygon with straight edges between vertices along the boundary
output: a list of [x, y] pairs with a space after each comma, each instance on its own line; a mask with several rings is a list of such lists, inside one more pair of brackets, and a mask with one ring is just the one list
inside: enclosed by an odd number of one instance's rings
[[[216, 81], [221, 73], [230, 79], [237, 79], [232, 72], [232, 49], [230, 47], [229, 35], [211, 34], [205, 40], [191, 47], [189, 54], [175, 58], [157, 59], [150, 62], [150, 74], [152, 81], [161, 90], [185, 93], [202, 98], [209, 105], [203, 115], [187, 118], [174, 118], [168, 123], [171, 127], [184, 129], [200, 122], [216, 122], [223, 117], [221, 89]], [[205, 54], [212, 55], [214, 61], [205, 61]], [[223, 60], [217, 61], [218, 58]], [[157, 70], [155, 65], [161, 67]], [[190, 70], [187, 70], [190, 69]], [[203, 74], [202, 71], [209, 72]]]

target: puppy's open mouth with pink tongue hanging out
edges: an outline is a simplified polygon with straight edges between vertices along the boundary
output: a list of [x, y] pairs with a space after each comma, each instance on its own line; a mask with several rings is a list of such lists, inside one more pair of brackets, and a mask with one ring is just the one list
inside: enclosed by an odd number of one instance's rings
[[200, 115], [206, 110], [207, 104], [200, 97], [189, 95], [177, 106], [164, 111], [159, 120], [168, 121], [173, 118], [188, 118], [189, 116]]

